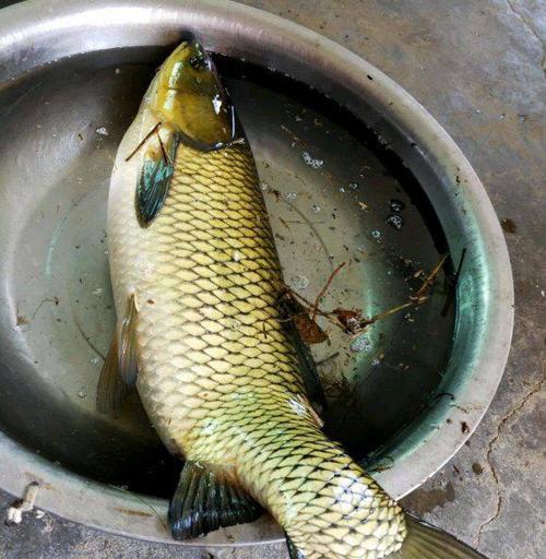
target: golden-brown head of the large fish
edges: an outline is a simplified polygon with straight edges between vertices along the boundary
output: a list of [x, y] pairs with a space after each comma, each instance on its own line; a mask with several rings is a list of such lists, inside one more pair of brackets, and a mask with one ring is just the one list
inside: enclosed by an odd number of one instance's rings
[[145, 99], [182, 142], [212, 150], [235, 139], [235, 114], [210, 55], [185, 40], [165, 60]]

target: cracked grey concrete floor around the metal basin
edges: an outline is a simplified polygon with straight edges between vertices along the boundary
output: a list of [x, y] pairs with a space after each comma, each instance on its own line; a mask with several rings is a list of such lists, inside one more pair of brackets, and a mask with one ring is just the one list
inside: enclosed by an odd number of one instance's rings
[[[245, 3], [322, 33], [399, 82], [461, 146], [499, 218], [511, 221], [506, 236], [517, 308], [505, 378], [470, 442], [404, 504], [491, 559], [544, 557], [546, 4], [539, 0]], [[0, 509], [12, 499], [0, 493]], [[205, 550], [182, 551], [109, 536], [46, 514], [0, 527], [0, 558], [22, 557], [282, 559], [287, 555], [284, 546], [225, 549], [213, 556]]]

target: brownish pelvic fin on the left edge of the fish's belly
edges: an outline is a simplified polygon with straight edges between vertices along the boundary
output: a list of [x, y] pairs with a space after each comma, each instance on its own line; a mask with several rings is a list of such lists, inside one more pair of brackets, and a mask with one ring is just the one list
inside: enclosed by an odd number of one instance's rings
[[131, 295], [98, 378], [96, 406], [103, 414], [119, 407], [134, 390], [138, 376], [136, 314], [134, 296]]

